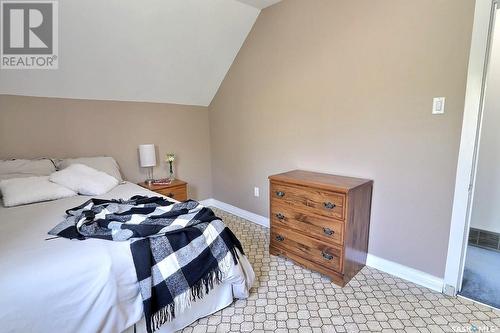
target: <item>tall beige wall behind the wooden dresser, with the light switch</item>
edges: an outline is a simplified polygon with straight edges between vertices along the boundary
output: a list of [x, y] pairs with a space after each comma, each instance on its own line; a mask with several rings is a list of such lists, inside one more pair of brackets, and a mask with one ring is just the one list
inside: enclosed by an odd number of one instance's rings
[[[271, 174], [372, 178], [370, 253], [443, 276], [473, 12], [471, 0], [262, 11], [210, 105], [214, 197], [268, 215]], [[435, 96], [445, 115], [431, 115]]]

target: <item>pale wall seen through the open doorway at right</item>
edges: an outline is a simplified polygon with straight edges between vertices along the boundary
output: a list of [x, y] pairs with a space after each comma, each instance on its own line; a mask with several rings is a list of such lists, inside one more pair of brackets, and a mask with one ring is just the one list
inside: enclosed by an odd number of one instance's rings
[[472, 208], [473, 228], [500, 233], [500, 15], [488, 68], [483, 110], [481, 142], [477, 166], [476, 189]]

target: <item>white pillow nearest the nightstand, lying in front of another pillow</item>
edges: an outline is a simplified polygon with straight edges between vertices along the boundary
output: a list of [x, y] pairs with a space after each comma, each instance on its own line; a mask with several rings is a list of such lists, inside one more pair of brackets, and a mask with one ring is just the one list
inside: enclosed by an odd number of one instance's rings
[[49, 177], [51, 182], [83, 195], [101, 195], [118, 185], [118, 179], [84, 164], [71, 164]]

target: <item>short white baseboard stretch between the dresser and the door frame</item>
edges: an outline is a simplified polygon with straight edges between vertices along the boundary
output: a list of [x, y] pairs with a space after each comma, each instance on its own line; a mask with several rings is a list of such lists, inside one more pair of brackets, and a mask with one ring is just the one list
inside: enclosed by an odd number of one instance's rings
[[396, 262], [379, 258], [368, 253], [366, 266], [373, 267], [379, 271], [397, 276], [401, 279], [413, 282], [420, 286], [437, 292], [443, 292], [444, 280], [434, 275], [416, 270], [414, 268], [398, 264]]

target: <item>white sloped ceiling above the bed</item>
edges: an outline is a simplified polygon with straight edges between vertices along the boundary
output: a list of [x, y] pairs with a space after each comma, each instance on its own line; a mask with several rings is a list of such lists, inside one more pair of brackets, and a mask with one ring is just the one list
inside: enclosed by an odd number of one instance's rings
[[59, 69], [1, 70], [0, 93], [207, 106], [274, 2], [59, 1]]

